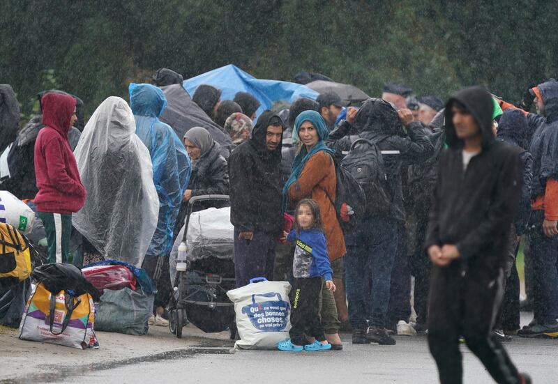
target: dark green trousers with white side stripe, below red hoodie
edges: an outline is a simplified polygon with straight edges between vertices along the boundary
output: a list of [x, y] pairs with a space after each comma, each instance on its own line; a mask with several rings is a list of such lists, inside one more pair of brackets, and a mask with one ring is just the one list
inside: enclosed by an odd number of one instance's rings
[[37, 215], [45, 226], [48, 245], [47, 263], [72, 263], [73, 254], [70, 252], [72, 215], [50, 212], [38, 212]]

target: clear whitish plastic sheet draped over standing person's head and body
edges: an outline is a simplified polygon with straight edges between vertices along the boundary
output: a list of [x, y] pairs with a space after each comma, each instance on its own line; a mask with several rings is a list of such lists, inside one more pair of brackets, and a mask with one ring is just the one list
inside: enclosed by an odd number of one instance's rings
[[149, 151], [135, 135], [132, 110], [107, 98], [87, 122], [77, 148], [87, 190], [73, 225], [105, 259], [141, 266], [158, 220], [159, 199]]

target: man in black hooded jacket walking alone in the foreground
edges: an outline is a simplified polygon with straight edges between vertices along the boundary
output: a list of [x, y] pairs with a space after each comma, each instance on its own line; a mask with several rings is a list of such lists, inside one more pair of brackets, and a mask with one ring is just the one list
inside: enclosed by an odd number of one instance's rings
[[425, 247], [430, 277], [428, 344], [442, 384], [462, 383], [460, 336], [497, 383], [530, 383], [492, 334], [518, 211], [518, 150], [496, 141], [492, 96], [463, 89], [446, 104], [449, 150], [439, 161]]

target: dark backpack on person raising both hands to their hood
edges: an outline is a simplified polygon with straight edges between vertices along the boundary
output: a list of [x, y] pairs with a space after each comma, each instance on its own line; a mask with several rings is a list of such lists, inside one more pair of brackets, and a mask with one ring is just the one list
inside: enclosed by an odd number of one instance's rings
[[377, 146], [377, 143], [385, 138], [375, 142], [363, 138], [356, 139], [342, 160], [343, 167], [364, 191], [367, 215], [385, 215], [391, 208], [384, 158]]

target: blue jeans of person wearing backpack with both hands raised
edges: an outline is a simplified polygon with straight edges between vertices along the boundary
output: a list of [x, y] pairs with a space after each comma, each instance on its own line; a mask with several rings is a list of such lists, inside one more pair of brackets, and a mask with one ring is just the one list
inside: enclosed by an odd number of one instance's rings
[[345, 237], [345, 284], [353, 329], [386, 325], [397, 236], [395, 220], [367, 217], [359, 229]]

